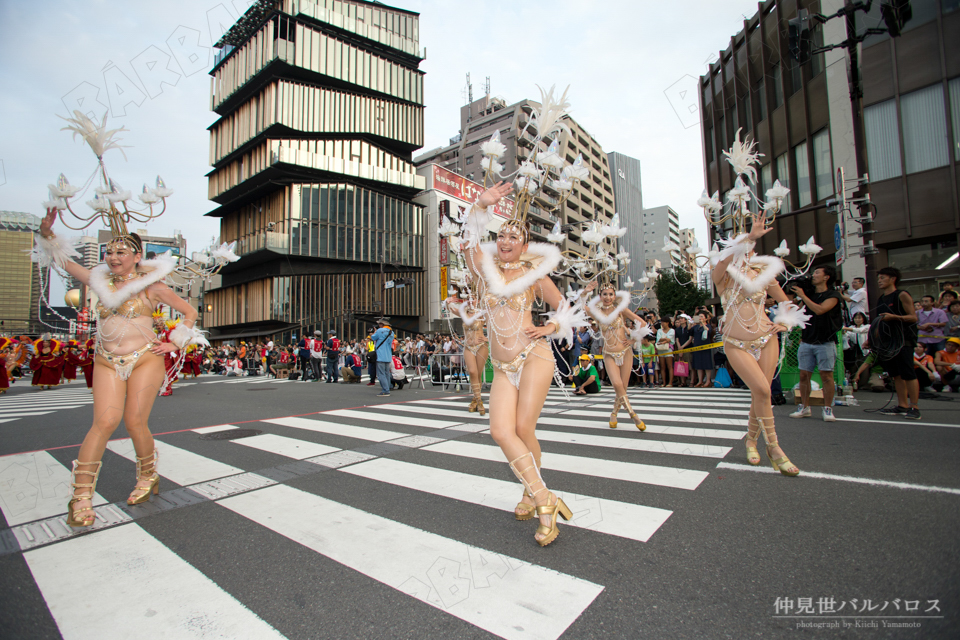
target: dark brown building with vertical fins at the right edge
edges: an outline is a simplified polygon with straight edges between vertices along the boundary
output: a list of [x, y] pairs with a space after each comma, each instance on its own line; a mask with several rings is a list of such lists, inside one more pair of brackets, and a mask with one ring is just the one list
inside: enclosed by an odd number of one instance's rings
[[[806, 64], [789, 55], [788, 21], [798, 9], [830, 15], [842, 0], [765, 0], [730, 39], [709, 74], [700, 79], [704, 173], [707, 191], [721, 199], [734, 176], [721, 152], [737, 129], [764, 154], [762, 194], [774, 180], [791, 189], [784, 215], [763, 239], [772, 252], [783, 239], [793, 248], [815, 236], [822, 262], [842, 262], [843, 276], [864, 274], [860, 247], [872, 240], [876, 266], [894, 266], [915, 298], [957, 281], [960, 233], [960, 3], [913, 0], [912, 19], [898, 38], [877, 35], [862, 45], [865, 153], [875, 218], [872, 237], [847, 221], [847, 255], [833, 253], [835, 214], [826, 201], [837, 192], [843, 168], [857, 177], [848, 59], [843, 49]], [[857, 30], [883, 25], [880, 2], [858, 14]], [[845, 21], [815, 27], [814, 44], [838, 44], [850, 34]], [[792, 214], [792, 215], [791, 215]], [[713, 229], [710, 242], [721, 230]], [[726, 230], [723, 231], [726, 233]], [[868, 283], [868, 289], [875, 289]]]

